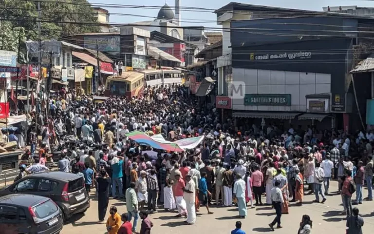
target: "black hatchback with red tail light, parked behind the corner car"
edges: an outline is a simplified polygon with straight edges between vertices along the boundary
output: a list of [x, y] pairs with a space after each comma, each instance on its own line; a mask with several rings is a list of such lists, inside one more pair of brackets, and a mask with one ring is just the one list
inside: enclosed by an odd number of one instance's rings
[[84, 213], [90, 207], [90, 197], [82, 176], [66, 172], [38, 172], [26, 176], [0, 190], [0, 197], [9, 194], [32, 194], [51, 198], [62, 210], [64, 220]]

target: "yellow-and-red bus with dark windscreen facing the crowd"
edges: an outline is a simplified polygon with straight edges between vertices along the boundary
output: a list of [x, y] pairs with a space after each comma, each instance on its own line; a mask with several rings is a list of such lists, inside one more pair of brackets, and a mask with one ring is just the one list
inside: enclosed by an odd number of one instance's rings
[[110, 76], [105, 83], [104, 95], [126, 96], [127, 98], [143, 95], [144, 74], [140, 72], [124, 72], [122, 76]]

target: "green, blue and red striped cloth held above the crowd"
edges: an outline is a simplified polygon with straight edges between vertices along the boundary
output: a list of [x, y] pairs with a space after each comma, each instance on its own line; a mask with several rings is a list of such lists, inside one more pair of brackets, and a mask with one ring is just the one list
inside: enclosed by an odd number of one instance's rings
[[184, 151], [181, 147], [179, 147], [176, 143], [162, 143], [159, 141], [156, 141], [152, 139], [147, 134], [141, 132], [141, 131], [132, 131], [128, 134], [125, 134], [126, 137], [129, 137], [131, 140], [136, 141], [139, 144], [148, 145], [155, 149], [161, 149], [161, 150], [168, 150], [173, 152], [182, 152]]

